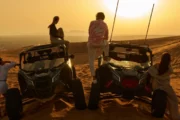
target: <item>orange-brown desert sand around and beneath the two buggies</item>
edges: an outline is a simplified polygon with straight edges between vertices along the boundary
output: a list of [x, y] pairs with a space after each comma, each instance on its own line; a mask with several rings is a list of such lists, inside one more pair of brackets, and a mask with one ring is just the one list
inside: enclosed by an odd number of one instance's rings
[[[133, 40], [132, 43], [143, 44], [143, 40]], [[171, 76], [171, 84], [180, 101], [180, 36], [165, 37], [157, 39], [148, 39], [146, 44], [150, 45], [154, 53], [154, 62], [160, 60], [161, 54], [168, 51], [172, 55], [172, 66], [177, 74]], [[0, 53], [4, 60], [13, 60], [18, 62], [18, 53], [22, 48], [11, 49]], [[90, 75], [86, 42], [71, 43], [70, 53], [75, 55], [73, 63], [75, 65], [77, 76], [81, 79], [84, 87], [86, 103], [89, 100], [92, 78]], [[96, 63], [97, 67], [97, 63]], [[9, 71], [8, 84], [9, 87], [19, 87], [17, 82], [18, 67]], [[179, 104], [180, 105], [180, 104]], [[150, 113], [151, 106], [145, 102], [138, 100], [123, 100], [120, 98], [107, 97], [102, 99], [99, 109], [76, 110], [74, 102], [71, 98], [59, 98], [40, 104], [38, 101], [32, 102], [24, 106], [24, 116], [22, 120], [169, 120], [168, 113], [164, 118], [153, 118]], [[180, 109], [180, 106], [179, 106]], [[8, 120], [4, 114], [3, 99], [0, 99], [0, 111], [2, 120]]]

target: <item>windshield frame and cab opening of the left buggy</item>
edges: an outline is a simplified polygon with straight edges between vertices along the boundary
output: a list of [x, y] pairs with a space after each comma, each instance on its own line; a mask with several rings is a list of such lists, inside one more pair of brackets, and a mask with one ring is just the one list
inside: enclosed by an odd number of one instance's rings
[[[64, 51], [63, 48], [59, 47], [52, 47], [52, 48], [47, 48], [47, 49], [40, 49], [40, 50], [34, 50], [34, 51], [23, 51], [20, 53], [19, 57], [19, 62], [20, 62], [20, 69], [24, 70], [25, 65], [33, 66], [33, 64], [36, 63], [55, 63], [56, 61], [61, 61], [59, 62], [58, 65], [62, 64], [63, 62], [66, 61], [66, 56], [67, 53]], [[31, 58], [31, 59], [29, 59]], [[47, 64], [45, 64], [47, 66]], [[54, 66], [52, 66], [54, 67]], [[47, 68], [47, 67], [45, 67]], [[49, 69], [49, 68], [47, 68]]]

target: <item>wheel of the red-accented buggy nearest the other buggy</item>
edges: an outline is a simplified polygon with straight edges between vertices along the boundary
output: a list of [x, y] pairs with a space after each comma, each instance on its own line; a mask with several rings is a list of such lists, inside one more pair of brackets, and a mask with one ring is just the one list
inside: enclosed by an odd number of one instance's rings
[[92, 83], [90, 97], [89, 97], [89, 103], [88, 103], [88, 108], [90, 110], [98, 109], [99, 99], [100, 99], [100, 86], [99, 86], [99, 82], [96, 83], [96, 84]]

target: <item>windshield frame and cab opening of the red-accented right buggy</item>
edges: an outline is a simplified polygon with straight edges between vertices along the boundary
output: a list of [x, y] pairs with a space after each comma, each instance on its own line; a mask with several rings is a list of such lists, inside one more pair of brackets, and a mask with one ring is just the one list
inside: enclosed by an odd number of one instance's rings
[[147, 45], [111, 43], [109, 44], [109, 57], [115, 60], [114, 62], [110, 61], [112, 64], [127, 62], [139, 65], [142, 68], [153, 65], [153, 54]]

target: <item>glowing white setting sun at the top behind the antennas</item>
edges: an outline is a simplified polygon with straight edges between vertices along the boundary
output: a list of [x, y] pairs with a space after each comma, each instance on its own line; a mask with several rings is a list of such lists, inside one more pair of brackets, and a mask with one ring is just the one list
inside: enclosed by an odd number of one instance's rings
[[[141, 17], [150, 13], [154, 3], [157, 3], [156, 0], [120, 0], [117, 15], [126, 18]], [[104, 0], [104, 4], [115, 13], [117, 0]]]

